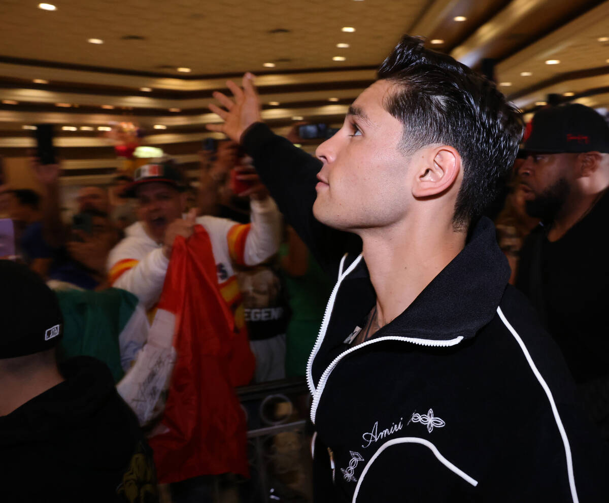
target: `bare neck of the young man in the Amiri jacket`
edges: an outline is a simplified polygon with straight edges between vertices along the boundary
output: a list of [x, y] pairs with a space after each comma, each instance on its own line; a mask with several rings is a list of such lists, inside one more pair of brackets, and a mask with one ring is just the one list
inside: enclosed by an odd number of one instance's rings
[[364, 258], [376, 292], [379, 326], [400, 315], [465, 247], [452, 223], [422, 221], [362, 232]]

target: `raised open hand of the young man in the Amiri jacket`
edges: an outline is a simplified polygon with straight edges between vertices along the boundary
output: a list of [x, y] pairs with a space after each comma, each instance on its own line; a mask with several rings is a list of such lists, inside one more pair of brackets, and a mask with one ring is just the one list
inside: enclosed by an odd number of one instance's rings
[[260, 99], [253, 84], [254, 79], [253, 74], [247, 72], [243, 76], [243, 88], [240, 88], [232, 80], [227, 81], [227, 86], [233, 93], [234, 100], [219, 91], [215, 91], [214, 98], [224, 108], [211, 104], [209, 110], [224, 119], [224, 124], [207, 124], [205, 127], [210, 131], [224, 133], [228, 138], [240, 143], [245, 130], [255, 122], [261, 121]]

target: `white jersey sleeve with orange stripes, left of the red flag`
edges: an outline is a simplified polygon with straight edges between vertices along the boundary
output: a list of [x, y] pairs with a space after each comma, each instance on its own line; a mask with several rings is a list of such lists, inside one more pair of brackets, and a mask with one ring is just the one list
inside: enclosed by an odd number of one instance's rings
[[[119, 243], [110, 253], [110, 281], [113, 287], [136, 295], [146, 309], [150, 309], [161, 296], [169, 259], [163, 254], [163, 248], [155, 248], [143, 255], [137, 243], [128, 241], [130, 238]], [[119, 276], [113, 281], [116, 274]]]

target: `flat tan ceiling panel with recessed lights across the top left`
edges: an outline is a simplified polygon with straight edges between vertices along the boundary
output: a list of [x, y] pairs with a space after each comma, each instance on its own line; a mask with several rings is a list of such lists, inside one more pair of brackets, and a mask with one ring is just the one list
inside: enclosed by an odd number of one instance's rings
[[[192, 74], [256, 71], [265, 62], [278, 70], [377, 65], [423, 6], [417, 0], [62, 0], [48, 12], [5, 0], [0, 55], [172, 74], [178, 66]], [[356, 32], [343, 33], [344, 26]], [[278, 29], [288, 32], [270, 33]], [[122, 40], [125, 35], [145, 40]], [[337, 49], [340, 42], [351, 47]], [[336, 55], [347, 60], [334, 62]]]

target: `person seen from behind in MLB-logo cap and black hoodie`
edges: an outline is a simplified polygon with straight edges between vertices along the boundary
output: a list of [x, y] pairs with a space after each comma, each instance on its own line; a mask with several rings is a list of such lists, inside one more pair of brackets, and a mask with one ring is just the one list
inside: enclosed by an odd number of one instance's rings
[[152, 452], [107, 367], [84, 356], [57, 364], [63, 317], [54, 292], [7, 260], [0, 284], [3, 499], [158, 501]]

